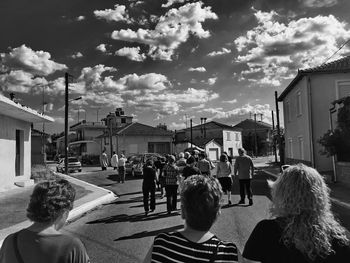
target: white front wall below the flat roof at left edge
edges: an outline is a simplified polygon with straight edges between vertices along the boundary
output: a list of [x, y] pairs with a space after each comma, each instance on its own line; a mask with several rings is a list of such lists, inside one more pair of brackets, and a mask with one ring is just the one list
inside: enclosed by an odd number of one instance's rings
[[[23, 130], [23, 166], [21, 176], [15, 176], [16, 129]], [[10, 189], [14, 182], [30, 179], [30, 123], [0, 115], [0, 189]]]

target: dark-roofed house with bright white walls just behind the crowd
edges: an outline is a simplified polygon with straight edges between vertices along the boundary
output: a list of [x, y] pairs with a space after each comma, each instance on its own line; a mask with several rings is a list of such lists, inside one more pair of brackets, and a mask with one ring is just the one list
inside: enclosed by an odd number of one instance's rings
[[192, 147], [191, 144], [203, 148], [212, 160], [218, 160], [222, 152], [227, 152], [229, 156], [236, 156], [238, 148], [242, 147], [241, 129], [210, 121], [193, 126], [192, 129], [187, 128], [176, 132], [175, 151], [177, 153], [184, 151], [188, 146]]

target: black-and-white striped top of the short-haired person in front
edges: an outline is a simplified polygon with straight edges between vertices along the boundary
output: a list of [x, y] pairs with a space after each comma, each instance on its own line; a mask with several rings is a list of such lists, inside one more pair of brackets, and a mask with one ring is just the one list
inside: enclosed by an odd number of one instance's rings
[[216, 263], [238, 262], [237, 247], [215, 235], [203, 243], [195, 243], [179, 232], [172, 232], [155, 237], [151, 262], [210, 262], [212, 258]]

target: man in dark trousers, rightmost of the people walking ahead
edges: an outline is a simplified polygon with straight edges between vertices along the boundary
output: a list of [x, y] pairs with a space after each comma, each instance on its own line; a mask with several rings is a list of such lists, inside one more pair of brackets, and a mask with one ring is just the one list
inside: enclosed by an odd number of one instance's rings
[[239, 179], [239, 193], [241, 196], [241, 200], [238, 204], [245, 203], [245, 196], [247, 194], [249, 205], [253, 205], [253, 192], [251, 188], [251, 180], [254, 174], [254, 164], [252, 158], [246, 155], [245, 150], [243, 148], [238, 149], [239, 156], [236, 158], [236, 162], [234, 165], [234, 175], [236, 176], [238, 173]]

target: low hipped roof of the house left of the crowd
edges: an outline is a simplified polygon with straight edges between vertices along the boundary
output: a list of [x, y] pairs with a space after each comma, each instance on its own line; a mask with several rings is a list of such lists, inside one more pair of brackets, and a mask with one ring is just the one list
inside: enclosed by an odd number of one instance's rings
[[[173, 132], [161, 128], [152, 127], [139, 122], [129, 123], [124, 127], [114, 129], [113, 135], [126, 136], [173, 136]], [[97, 138], [104, 138], [108, 135], [102, 134]]]

